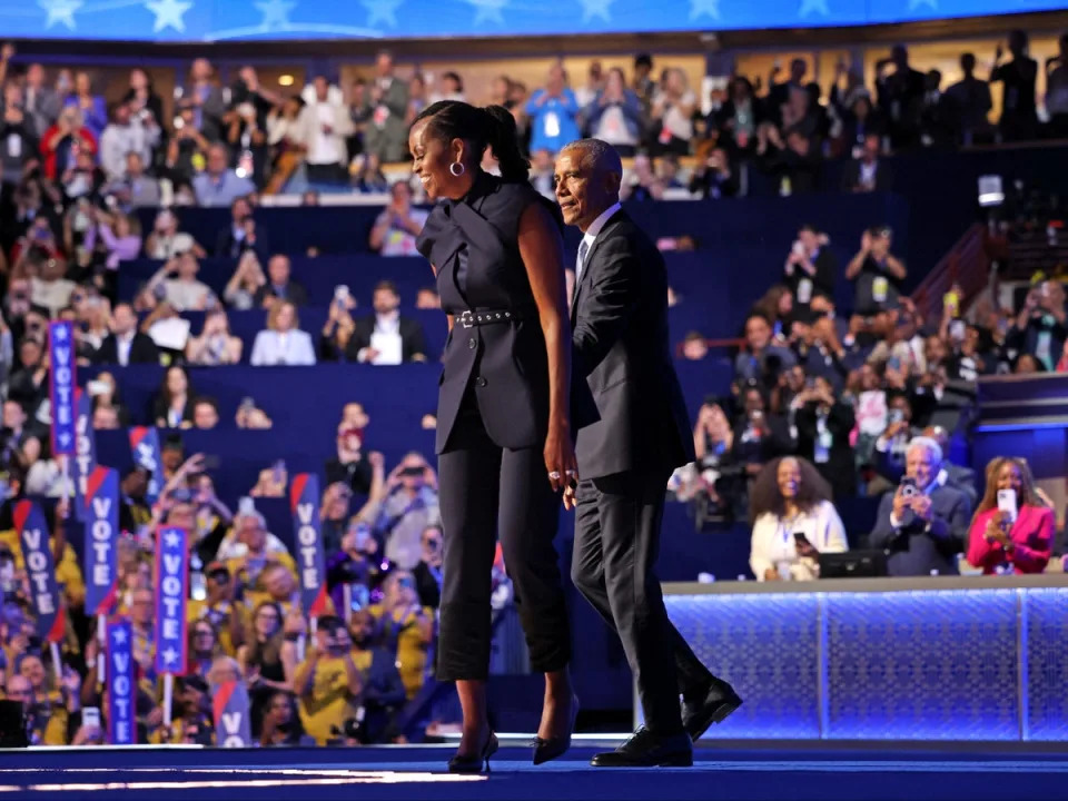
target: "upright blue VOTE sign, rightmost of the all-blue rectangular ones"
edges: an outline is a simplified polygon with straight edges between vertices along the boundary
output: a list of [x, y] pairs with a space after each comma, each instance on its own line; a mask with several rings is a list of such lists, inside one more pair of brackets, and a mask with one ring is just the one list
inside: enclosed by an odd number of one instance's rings
[[156, 532], [156, 672], [186, 672], [186, 599], [189, 597], [189, 538], [185, 528]]

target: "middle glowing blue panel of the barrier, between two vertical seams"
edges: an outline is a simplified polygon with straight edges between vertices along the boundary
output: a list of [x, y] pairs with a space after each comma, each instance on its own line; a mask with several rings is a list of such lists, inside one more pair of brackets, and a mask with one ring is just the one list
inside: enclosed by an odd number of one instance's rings
[[1019, 739], [1016, 591], [825, 599], [827, 736]]

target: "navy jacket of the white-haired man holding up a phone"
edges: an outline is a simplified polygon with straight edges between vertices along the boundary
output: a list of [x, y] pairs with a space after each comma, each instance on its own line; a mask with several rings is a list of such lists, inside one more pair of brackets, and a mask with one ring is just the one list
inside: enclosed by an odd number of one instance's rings
[[893, 493], [888, 492], [879, 504], [876, 530], [869, 545], [888, 548], [888, 573], [892, 576], [922, 576], [938, 571], [940, 575], [957, 575], [957, 554], [968, 542], [971, 504], [968, 497], [951, 486], [930, 491], [931, 527], [907, 511], [903, 525], [894, 530], [890, 523]]

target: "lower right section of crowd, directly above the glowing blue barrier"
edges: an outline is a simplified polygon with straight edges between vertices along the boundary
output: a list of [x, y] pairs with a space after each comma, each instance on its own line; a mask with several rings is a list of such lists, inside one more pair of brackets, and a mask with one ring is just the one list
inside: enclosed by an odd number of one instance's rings
[[[955, 285], [924, 319], [901, 291], [892, 231], [863, 231], [844, 270], [829, 245], [803, 226], [782, 284], [749, 313], [732, 392], [702, 406], [698, 462], [673, 476], [676, 498], [705, 520], [748, 514], [759, 581], [818, 575], [821, 553], [848, 547], [834, 503], [857, 496], [881, 496], [861, 543], [890, 551], [890, 575], [956, 574], [962, 558], [987, 573], [1041, 572], [1055, 515], [1027, 463], [996, 459], [982, 484], [950, 451], [967, 441], [977, 378], [1068, 372], [1064, 284], [1039, 277], [1018, 312], [983, 297], [967, 314]], [[848, 317], [839, 280], [853, 285]], [[712, 358], [699, 332], [680, 356]], [[997, 490], [1013, 491], [1018, 516], [998, 510]]]

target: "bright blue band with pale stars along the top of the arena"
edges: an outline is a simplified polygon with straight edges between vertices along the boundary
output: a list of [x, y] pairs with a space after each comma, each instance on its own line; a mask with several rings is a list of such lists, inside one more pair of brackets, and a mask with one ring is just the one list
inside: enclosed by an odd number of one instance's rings
[[2, 0], [0, 31], [147, 41], [536, 36], [880, 24], [1061, 8], [1060, 0]]

